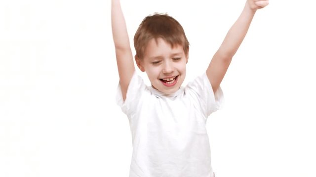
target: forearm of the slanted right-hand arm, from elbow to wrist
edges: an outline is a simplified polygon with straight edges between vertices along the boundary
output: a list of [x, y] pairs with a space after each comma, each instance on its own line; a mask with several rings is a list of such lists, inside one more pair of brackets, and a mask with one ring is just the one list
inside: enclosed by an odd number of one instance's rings
[[233, 58], [249, 29], [255, 12], [256, 10], [251, 9], [248, 3], [245, 4], [240, 16], [228, 31], [222, 45], [217, 51], [217, 55], [228, 59]]

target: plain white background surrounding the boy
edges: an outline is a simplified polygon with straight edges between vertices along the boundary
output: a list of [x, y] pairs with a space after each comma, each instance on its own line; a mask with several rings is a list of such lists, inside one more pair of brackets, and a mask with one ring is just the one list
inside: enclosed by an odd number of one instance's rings
[[[184, 84], [205, 71], [244, 2], [121, 0], [133, 54], [145, 16], [168, 12], [182, 24]], [[256, 13], [222, 82], [225, 105], [206, 124], [217, 177], [316, 177], [310, 3], [271, 0]], [[0, 0], [0, 177], [128, 177], [110, 4]]]

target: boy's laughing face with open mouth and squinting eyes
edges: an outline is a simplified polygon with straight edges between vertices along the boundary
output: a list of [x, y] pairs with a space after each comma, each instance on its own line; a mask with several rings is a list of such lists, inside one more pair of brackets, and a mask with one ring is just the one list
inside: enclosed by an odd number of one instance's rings
[[149, 41], [142, 60], [136, 59], [141, 71], [146, 71], [153, 88], [171, 94], [176, 92], [186, 76], [188, 55], [182, 46], [166, 43], [162, 38]]

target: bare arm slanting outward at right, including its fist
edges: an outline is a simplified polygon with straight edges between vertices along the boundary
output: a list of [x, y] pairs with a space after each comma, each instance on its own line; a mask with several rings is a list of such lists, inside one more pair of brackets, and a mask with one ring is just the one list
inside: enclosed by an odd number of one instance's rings
[[228, 31], [206, 70], [214, 93], [219, 88], [233, 56], [244, 39], [256, 10], [268, 4], [269, 0], [247, 0], [237, 21]]

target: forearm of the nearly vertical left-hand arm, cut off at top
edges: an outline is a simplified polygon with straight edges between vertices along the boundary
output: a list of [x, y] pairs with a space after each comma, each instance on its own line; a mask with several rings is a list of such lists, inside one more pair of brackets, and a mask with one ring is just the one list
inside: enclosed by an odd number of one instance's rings
[[112, 33], [116, 50], [130, 50], [126, 23], [119, 0], [111, 4]]

